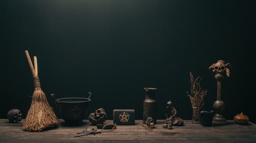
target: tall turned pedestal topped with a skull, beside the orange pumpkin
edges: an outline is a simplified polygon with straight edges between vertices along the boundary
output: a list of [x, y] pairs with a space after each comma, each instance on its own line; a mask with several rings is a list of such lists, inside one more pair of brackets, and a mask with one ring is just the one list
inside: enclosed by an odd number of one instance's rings
[[212, 69], [215, 74], [215, 79], [217, 80], [217, 100], [214, 102], [214, 111], [215, 115], [212, 119], [213, 125], [227, 125], [229, 124], [226, 120], [226, 118], [221, 113], [225, 109], [225, 104], [221, 100], [221, 84], [224, 80], [224, 73], [226, 73], [226, 76], [230, 76], [230, 69], [232, 68], [230, 63], [225, 64], [223, 60], [217, 61], [217, 63], [212, 64], [212, 66], [209, 67], [209, 69]]

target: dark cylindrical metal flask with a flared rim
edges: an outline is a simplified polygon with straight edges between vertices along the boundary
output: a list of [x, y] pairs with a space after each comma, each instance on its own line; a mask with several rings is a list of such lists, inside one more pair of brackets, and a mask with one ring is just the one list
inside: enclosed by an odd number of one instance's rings
[[146, 99], [143, 102], [143, 123], [146, 124], [147, 118], [152, 117], [156, 124], [156, 100], [155, 91], [157, 88], [144, 88], [146, 91]]

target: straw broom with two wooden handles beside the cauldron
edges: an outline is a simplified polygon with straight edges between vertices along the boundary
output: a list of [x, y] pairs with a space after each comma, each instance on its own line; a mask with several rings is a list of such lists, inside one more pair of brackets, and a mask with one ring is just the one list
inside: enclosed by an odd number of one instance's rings
[[27, 50], [25, 51], [25, 54], [33, 74], [35, 91], [33, 92], [32, 102], [29, 111], [27, 111], [26, 119], [24, 120], [23, 130], [39, 132], [44, 129], [56, 128], [60, 125], [60, 121], [55, 115], [53, 108], [48, 104], [47, 98], [41, 89], [38, 77], [37, 58], [34, 56], [34, 69]]

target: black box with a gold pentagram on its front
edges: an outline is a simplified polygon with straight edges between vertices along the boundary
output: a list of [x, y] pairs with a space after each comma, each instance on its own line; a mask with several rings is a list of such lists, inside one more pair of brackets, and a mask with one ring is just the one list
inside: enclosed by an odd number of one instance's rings
[[116, 125], [135, 125], [134, 109], [113, 110], [113, 123]]

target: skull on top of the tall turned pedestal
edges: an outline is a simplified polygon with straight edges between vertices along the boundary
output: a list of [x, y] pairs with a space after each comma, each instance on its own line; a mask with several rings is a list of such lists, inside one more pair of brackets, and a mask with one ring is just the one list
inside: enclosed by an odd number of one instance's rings
[[223, 60], [217, 61], [217, 63], [212, 64], [212, 66], [209, 67], [209, 69], [212, 69], [215, 73], [224, 73], [226, 72], [227, 76], [229, 77], [229, 70], [231, 69], [230, 63], [225, 64]]

